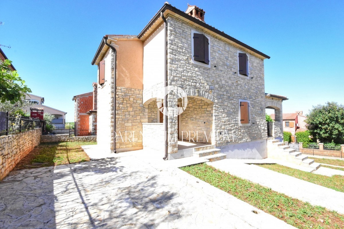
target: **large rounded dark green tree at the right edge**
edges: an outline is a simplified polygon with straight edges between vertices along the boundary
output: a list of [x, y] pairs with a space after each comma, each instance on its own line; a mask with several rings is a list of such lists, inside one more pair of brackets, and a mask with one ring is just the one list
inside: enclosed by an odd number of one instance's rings
[[310, 134], [321, 142], [344, 143], [344, 106], [336, 102], [313, 106], [305, 120]]

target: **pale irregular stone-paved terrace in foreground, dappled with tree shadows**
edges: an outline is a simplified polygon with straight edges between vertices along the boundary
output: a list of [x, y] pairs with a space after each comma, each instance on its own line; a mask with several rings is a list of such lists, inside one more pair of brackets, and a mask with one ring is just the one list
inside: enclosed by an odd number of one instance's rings
[[[200, 186], [185, 185], [181, 170], [172, 179], [122, 155], [10, 173], [0, 183], [0, 228], [293, 228], [186, 173]], [[216, 203], [223, 197], [227, 208]]]

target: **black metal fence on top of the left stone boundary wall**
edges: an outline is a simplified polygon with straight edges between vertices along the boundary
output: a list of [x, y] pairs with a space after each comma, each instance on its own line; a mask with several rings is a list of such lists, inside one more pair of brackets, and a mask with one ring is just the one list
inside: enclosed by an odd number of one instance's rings
[[40, 128], [44, 121], [25, 116], [10, 116], [8, 112], [0, 112], [0, 136], [20, 133], [22, 131]]

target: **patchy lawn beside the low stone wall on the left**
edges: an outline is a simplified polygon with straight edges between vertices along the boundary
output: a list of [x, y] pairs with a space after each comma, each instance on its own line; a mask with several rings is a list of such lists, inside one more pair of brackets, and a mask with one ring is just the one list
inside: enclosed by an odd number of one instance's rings
[[28, 169], [52, 165], [71, 164], [89, 161], [90, 158], [81, 148], [83, 145], [95, 145], [97, 142], [49, 142], [36, 146], [24, 157], [15, 169]]

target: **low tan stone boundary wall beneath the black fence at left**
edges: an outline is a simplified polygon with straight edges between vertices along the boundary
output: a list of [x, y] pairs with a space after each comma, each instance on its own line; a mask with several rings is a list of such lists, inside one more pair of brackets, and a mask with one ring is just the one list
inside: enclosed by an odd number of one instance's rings
[[0, 136], [0, 180], [41, 142], [42, 129]]

